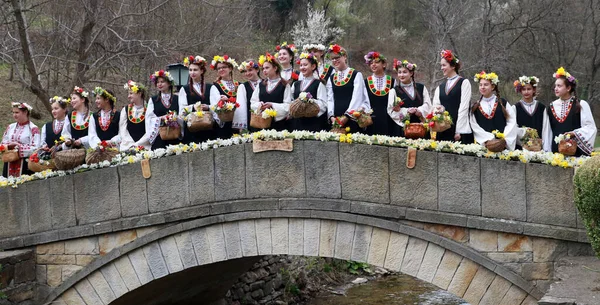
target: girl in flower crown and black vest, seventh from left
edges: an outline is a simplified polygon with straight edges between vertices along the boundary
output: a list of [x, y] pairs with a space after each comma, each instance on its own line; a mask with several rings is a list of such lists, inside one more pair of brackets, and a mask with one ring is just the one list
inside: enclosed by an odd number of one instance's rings
[[[187, 112], [209, 111], [210, 105], [210, 83], [204, 82], [206, 73], [206, 59], [202, 56], [187, 56], [183, 59], [183, 65], [188, 68], [189, 81], [179, 89], [179, 103], [185, 107]], [[191, 132], [187, 124], [183, 124], [183, 142], [201, 143], [206, 140], [216, 139], [216, 131], [202, 130]]]

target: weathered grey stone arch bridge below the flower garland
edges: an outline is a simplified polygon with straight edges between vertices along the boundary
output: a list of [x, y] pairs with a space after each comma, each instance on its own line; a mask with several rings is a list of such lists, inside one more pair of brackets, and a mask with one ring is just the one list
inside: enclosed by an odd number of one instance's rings
[[[210, 303], [261, 256], [289, 254], [397, 270], [473, 305], [537, 304], [558, 259], [591, 253], [572, 169], [406, 156], [243, 144], [151, 160], [149, 179], [131, 164], [0, 189], [0, 249], [35, 261], [35, 293], [13, 303]], [[9, 284], [27, 284], [17, 269]]]

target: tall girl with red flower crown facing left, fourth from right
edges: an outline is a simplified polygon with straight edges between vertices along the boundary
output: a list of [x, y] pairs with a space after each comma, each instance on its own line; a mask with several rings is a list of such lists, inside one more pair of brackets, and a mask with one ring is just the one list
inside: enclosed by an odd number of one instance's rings
[[469, 105], [471, 103], [471, 83], [458, 75], [461, 63], [450, 50], [441, 52], [440, 67], [446, 79], [433, 94], [433, 106], [442, 105], [452, 116], [452, 126], [444, 132], [438, 132], [436, 140], [461, 141], [473, 143], [473, 134], [469, 126]]

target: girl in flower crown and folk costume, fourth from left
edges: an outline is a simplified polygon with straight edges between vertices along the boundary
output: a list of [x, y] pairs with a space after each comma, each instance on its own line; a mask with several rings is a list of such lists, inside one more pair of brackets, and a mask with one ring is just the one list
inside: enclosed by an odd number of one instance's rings
[[117, 98], [115, 94], [101, 87], [94, 88], [96, 96], [96, 106], [98, 112], [94, 114], [94, 123], [96, 124], [96, 134], [100, 141], [106, 141], [111, 146], [119, 146], [119, 120], [121, 114], [115, 110]]

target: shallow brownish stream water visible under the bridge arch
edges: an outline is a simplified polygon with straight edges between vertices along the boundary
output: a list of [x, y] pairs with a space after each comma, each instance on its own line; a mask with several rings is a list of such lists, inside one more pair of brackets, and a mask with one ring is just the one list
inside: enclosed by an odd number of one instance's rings
[[392, 275], [356, 285], [346, 295], [326, 293], [308, 305], [469, 305], [461, 298], [408, 275]]

